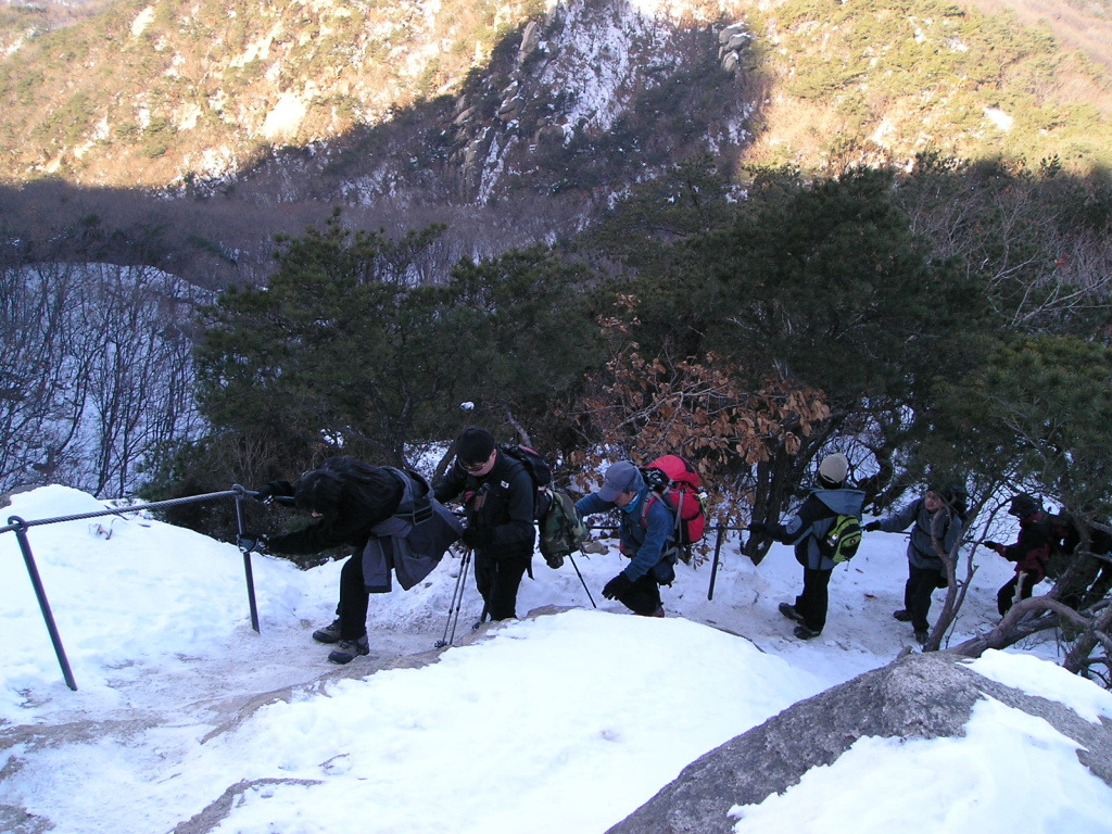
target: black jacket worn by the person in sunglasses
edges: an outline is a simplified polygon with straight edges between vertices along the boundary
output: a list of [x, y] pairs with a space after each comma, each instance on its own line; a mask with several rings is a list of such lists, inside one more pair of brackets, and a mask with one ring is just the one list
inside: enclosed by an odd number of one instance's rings
[[536, 486], [525, 467], [502, 449], [494, 467], [480, 478], [453, 464], [434, 485], [433, 494], [441, 503], [463, 496], [467, 526], [492, 532], [490, 544], [481, 548], [488, 556], [498, 559], [533, 555]]

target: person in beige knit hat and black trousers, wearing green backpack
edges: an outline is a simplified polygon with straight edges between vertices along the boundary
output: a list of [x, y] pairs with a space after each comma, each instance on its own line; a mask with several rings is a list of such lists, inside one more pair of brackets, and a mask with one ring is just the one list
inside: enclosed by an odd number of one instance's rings
[[845, 455], [827, 455], [818, 465], [818, 488], [811, 490], [796, 515], [784, 524], [749, 525], [749, 535], [767, 535], [781, 544], [795, 545], [795, 560], [803, 565], [803, 593], [794, 605], [781, 603], [780, 613], [798, 623], [794, 634], [800, 639], [817, 637], [826, 625], [828, 586], [835, 563], [822, 553], [818, 543], [838, 515], [861, 518], [865, 504], [862, 490], [845, 488], [848, 474]]

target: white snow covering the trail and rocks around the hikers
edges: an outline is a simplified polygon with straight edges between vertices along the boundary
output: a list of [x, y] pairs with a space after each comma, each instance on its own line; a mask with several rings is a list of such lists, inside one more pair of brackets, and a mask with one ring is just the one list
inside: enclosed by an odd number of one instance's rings
[[[102, 507], [54, 486], [14, 496], [0, 519]], [[468, 578], [457, 645], [435, 651], [458, 570], [446, 558], [414, 590], [371, 598], [371, 656], [346, 667], [309, 636], [332, 618], [340, 563], [254, 556], [256, 634], [231, 545], [133, 515], [29, 536], [79, 688], [4, 534], [0, 831], [19, 834], [603, 832], [702, 753], [916, 648], [891, 616], [906, 577], [897, 535], [866, 535], [806, 643], [776, 609], [798, 589], [790, 550], [754, 566], [731, 540], [714, 599], [709, 565], [679, 566], [665, 619], [602, 599], [616, 552], [577, 557], [597, 609], [569, 566], [537, 558], [518, 613], [572, 609], [475, 634]], [[1010, 575], [1002, 559], [980, 566], [952, 641], [991, 627]], [[1042, 659], [1055, 653], [1051, 638], [974, 668], [1112, 718], [1112, 695]], [[1049, 724], [986, 703], [964, 738], [863, 738], [733, 817], [745, 834], [1095, 834], [1112, 828], [1112, 790]]]

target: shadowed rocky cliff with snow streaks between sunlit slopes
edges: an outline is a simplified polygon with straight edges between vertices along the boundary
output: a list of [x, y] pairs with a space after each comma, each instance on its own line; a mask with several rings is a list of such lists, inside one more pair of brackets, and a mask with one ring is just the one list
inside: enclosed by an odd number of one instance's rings
[[567, 191], [605, 202], [678, 159], [729, 157], [751, 138], [738, 61], [749, 38], [715, 11], [695, 18], [686, 4], [628, 0], [554, 7], [508, 34], [451, 96], [311, 152], [279, 153], [239, 179], [261, 185], [281, 170], [355, 205], [487, 206]]

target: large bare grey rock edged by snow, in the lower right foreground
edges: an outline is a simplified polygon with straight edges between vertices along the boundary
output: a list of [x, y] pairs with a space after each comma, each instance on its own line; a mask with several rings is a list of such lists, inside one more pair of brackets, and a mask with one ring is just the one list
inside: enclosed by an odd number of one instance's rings
[[801, 701], [697, 758], [608, 834], [728, 834], [731, 806], [783, 793], [863, 736], [963, 735], [973, 705], [985, 696], [1045, 718], [1078, 742], [1078, 758], [1112, 786], [1112, 723], [1091, 724], [945, 655], [915, 654]]

